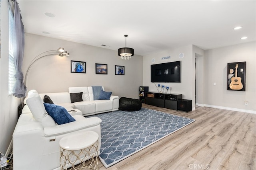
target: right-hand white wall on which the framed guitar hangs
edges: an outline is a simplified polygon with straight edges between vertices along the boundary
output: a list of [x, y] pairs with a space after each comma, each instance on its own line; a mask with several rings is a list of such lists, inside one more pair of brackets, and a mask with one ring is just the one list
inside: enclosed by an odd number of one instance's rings
[[[256, 42], [206, 50], [204, 54], [205, 106], [256, 113]], [[226, 90], [227, 63], [243, 61], [246, 61], [246, 91]], [[244, 101], [248, 101], [247, 106]]]

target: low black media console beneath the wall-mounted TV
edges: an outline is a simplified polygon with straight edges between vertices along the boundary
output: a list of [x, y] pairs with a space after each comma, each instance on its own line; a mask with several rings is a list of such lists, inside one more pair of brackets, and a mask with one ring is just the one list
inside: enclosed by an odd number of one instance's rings
[[178, 100], [182, 100], [182, 94], [164, 94], [146, 92], [145, 104], [178, 110]]

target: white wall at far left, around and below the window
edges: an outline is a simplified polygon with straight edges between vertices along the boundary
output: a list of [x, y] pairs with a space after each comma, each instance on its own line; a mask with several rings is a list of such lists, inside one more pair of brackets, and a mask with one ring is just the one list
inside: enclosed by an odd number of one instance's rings
[[8, 1], [1, 1], [1, 58], [0, 58], [0, 152], [6, 150], [18, 119], [20, 99], [8, 96]]

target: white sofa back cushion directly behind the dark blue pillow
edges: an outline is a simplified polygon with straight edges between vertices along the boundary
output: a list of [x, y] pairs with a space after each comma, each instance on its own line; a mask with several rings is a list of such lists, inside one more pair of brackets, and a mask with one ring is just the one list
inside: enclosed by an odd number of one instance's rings
[[50, 127], [56, 125], [54, 119], [52, 119], [52, 117], [46, 113], [44, 103], [42, 102], [42, 98], [40, 98], [38, 93], [28, 94], [26, 103], [34, 119], [42, 123], [43, 127]]

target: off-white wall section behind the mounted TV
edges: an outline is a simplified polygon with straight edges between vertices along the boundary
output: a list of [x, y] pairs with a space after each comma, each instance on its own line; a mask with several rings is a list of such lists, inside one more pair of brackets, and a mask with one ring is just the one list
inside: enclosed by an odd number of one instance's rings
[[[186, 47], [180, 47], [176, 49], [169, 49], [159, 53], [143, 56], [143, 86], [149, 86], [150, 92], [157, 92], [157, 84], [169, 86], [168, 93], [182, 94], [182, 98], [192, 100], [192, 107], [194, 104], [193, 92], [195, 90], [195, 61], [192, 55], [192, 45]], [[182, 59], [179, 58], [179, 54], [184, 53]], [[170, 59], [162, 60], [162, 57], [168, 57]], [[152, 63], [152, 59], [155, 59], [155, 63]], [[173, 61], [181, 61], [181, 82], [180, 83], [151, 83], [150, 82], [150, 65], [159, 63], [168, 63]], [[166, 93], [166, 89], [164, 90]]]

